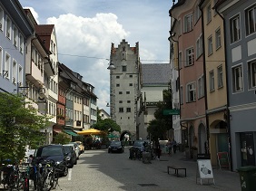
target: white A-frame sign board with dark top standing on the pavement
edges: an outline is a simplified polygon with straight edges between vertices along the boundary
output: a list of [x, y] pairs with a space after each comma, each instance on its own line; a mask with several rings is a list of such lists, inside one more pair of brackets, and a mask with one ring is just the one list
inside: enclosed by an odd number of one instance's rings
[[203, 179], [207, 180], [208, 184], [210, 184], [209, 180], [212, 180], [212, 184], [215, 185], [210, 156], [198, 154], [197, 158], [196, 184], [200, 178], [201, 185]]

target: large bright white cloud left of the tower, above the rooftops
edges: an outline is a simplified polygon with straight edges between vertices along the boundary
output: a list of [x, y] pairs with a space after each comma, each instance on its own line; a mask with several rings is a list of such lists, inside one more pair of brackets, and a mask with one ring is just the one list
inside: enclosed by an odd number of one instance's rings
[[47, 24], [55, 26], [59, 61], [94, 85], [99, 107], [108, 110], [105, 105], [109, 101], [109, 71], [105, 59], [110, 56], [111, 43], [120, 43], [129, 32], [111, 13], [96, 14], [93, 18], [61, 14], [48, 18]]

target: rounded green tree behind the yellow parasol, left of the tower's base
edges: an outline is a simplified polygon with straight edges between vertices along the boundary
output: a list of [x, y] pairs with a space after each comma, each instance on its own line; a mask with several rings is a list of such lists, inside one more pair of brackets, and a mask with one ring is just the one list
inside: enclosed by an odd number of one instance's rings
[[106, 132], [107, 135], [113, 131], [121, 132], [120, 126], [116, 124], [113, 119], [101, 119], [93, 125], [93, 128], [102, 130]]

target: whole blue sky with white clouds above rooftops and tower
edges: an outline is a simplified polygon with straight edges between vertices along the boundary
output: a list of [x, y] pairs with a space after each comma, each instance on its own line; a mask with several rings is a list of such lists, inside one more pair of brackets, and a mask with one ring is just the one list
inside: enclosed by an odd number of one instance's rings
[[58, 60], [94, 86], [99, 109], [109, 112], [111, 44], [139, 43], [140, 59], [168, 63], [172, 0], [19, 0], [37, 24], [54, 24]]

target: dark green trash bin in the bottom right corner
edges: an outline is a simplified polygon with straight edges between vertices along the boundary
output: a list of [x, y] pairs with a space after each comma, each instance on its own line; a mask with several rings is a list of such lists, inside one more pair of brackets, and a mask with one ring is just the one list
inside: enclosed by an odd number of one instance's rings
[[240, 175], [241, 190], [256, 190], [256, 167], [246, 166], [240, 167], [237, 170]]

